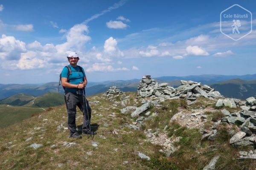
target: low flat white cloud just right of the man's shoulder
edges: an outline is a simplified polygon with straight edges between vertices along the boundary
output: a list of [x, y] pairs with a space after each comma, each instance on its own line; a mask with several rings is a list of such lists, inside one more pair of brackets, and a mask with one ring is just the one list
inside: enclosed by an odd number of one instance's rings
[[113, 71], [129, 71], [128, 68], [113, 68], [112, 65], [107, 65], [105, 63], [94, 63], [92, 67], [86, 69], [87, 72], [113, 72]]

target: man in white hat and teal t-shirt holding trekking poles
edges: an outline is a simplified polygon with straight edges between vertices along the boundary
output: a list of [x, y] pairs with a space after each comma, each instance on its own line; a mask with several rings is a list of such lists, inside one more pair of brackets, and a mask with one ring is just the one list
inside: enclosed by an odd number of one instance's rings
[[[77, 62], [79, 61], [78, 54], [76, 54], [76, 52], [71, 52], [70, 54], [68, 54], [67, 59], [70, 62], [70, 65], [68, 65], [68, 67], [70, 67], [71, 74], [68, 76], [69, 69], [67, 68], [67, 66], [64, 67], [61, 72], [61, 85], [65, 89], [65, 102], [68, 114], [67, 125], [68, 129], [70, 130], [70, 137], [81, 138], [81, 135], [79, 135], [76, 130], [76, 106], [78, 106], [79, 109], [83, 112], [83, 95], [79, 94], [78, 90], [83, 90], [83, 88], [85, 88], [85, 86], [87, 85], [87, 79], [84, 73], [84, 69], [77, 65]], [[86, 102], [90, 120], [91, 108], [87, 100]], [[89, 120], [87, 119], [87, 116], [83, 114], [83, 135], [96, 134], [96, 132], [90, 131]]]

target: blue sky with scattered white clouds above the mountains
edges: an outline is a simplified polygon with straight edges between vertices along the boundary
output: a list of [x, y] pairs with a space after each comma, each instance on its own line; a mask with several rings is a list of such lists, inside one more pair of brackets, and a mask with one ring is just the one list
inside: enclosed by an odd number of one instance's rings
[[[239, 4], [252, 32], [221, 34], [220, 13]], [[256, 74], [256, 2], [168, 0], [1, 0], [0, 83], [56, 82], [76, 51], [87, 79], [143, 75]], [[243, 13], [240, 7], [232, 14]], [[250, 32], [250, 19], [223, 19], [225, 34]]]

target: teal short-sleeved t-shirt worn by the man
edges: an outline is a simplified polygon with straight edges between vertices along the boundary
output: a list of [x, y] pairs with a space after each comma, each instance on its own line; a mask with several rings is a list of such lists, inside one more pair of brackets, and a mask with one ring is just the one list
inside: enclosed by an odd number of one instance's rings
[[[72, 67], [71, 65], [69, 66], [72, 72], [72, 74], [70, 74], [69, 76], [69, 83], [78, 85], [79, 82], [83, 82], [85, 77], [84, 68], [82, 68], [82, 72], [81, 72], [78, 66], [76, 67]], [[67, 78], [67, 76], [68, 76], [68, 68], [64, 67], [61, 72], [61, 77]], [[77, 88], [65, 88], [65, 91], [69, 91], [76, 94]]]

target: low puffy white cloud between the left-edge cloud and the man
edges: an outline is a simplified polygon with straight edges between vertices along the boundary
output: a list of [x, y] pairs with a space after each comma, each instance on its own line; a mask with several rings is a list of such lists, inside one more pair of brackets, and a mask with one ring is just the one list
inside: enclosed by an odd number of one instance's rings
[[21, 53], [21, 58], [17, 63], [17, 68], [20, 68], [21, 70], [44, 68], [46, 62], [43, 59], [38, 59], [36, 57], [37, 53], [34, 51]]

